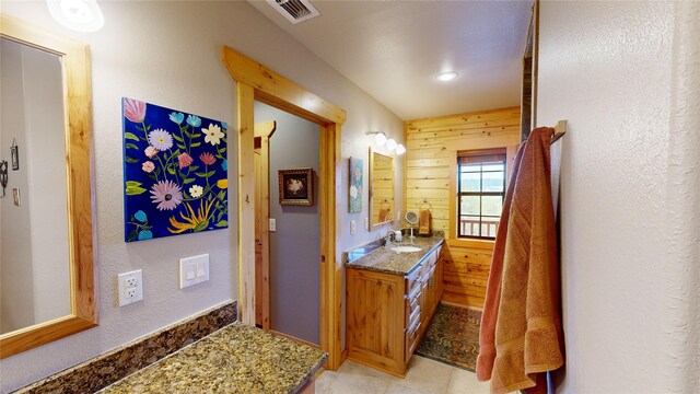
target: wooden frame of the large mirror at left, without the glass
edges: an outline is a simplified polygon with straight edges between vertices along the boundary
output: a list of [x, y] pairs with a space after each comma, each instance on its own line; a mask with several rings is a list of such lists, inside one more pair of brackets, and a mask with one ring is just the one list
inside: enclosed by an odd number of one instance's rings
[[71, 314], [0, 336], [0, 359], [97, 325], [92, 223], [92, 86], [86, 45], [0, 14], [0, 35], [62, 60]]

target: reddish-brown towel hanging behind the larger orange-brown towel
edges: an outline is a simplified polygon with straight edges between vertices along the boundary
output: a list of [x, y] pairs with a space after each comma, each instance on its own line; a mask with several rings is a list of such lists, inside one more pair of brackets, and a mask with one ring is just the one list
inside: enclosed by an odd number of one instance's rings
[[479, 326], [479, 357], [477, 358], [477, 379], [486, 382], [491, 379], [493, 370], [493, 361], [495, 360], [495, 320], [499, 313], [499, 303], [501, 301], [501, 275], [503, 273], [503, 256], [505, 255], [505, 234], [508, 232], [509, 215], [511, 212], [511, 202], [513, 201], [513, 190], [515, 189], [515, 179], [521, 166], [521, 159], [525, 144], [523, 142], [515, 154], [515, 162], [511, 171], [511, 181], [505, 190], [505, 199], [503, 200], [503, 210], [501, 211], [501, 220], [499, 230], [495, 234], [495, 245], [493, 246], [493, 257], [491, 258], [491, 268], [489, 270], [488, 286], [486, 288], [486, 299], [483, 301], [483, 312], [481, 313], [481, 325]]

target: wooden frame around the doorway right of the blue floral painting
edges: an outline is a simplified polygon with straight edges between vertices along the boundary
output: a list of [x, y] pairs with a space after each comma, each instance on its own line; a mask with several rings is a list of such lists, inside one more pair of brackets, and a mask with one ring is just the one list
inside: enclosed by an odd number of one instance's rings
[[320, 348], [326, 368], [341, 362], [342, 259], [337, 250], [340, 216], [340, 130], [345, 109], [283, 76], [223, 47], [223, 62], [236, 82], [238, 129], [238, 320], [255, 325], [254, 102], [260, 101], [320, 126], [318, 205], [320, 211]]

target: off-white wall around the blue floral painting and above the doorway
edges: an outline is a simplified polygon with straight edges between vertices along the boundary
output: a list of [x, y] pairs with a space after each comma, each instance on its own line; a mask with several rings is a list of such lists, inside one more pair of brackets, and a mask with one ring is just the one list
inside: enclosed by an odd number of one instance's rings
[[[90, 44], [100, 280], [100, 326], [0, 361], [2, 392], [237, 298], [235, 228], [125, 244], [121, 96], [228, 120], [232, 125], [229, 143], [234, 147], [235, 85], [221, 61], [221, 47], [225, 44], [348, 112], [342, 128], [343, 189], [348, 184], [347, 157], [366, 157], [368, 140], [360, 141], [364, 131], [382, 129], [397, 141], [402, 140], [402, 121], [398, 117], [246, 2], [115, 1], [100, 5], [104, 28], [79, 34], [54, 22], [45, 1], [2, 1], [3, 13]], [[229, 152], [232, 164], [236, 162], [234, 152]], [[230, 207], [235, 207], [234, 165], [229, 175]], [[397, 174], [397, 179], [402, 179], [402, 173]], [[402, 181], [396, 186], [401, 190]], [[347, 197], [340, 197], [338, 213], [345, 223]], [[400, 192], [397, 198], [402, 198]], [[230, 223], [236, 220], [232, 213]], [[360, 225], [358, 230], [350, 236], [349, 225], [343, 224], [342, 248], [375, 235], [361, 231]], [[210, 281], [178, 290], [177, 259], [200, 253], [210, 254]], [[116, 306], [116, 275], [139, 268], [144, 276], [144, 301]]]

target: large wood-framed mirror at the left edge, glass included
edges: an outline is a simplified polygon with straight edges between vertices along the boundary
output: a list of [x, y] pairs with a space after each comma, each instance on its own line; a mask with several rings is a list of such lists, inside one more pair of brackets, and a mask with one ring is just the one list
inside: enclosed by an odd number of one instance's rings
[[[0, 358], [7, 358], [96, 326], [97, 311], [89, 49], [3, 14], [0, 36], [0, 160], [8, 160], [8, 139], [18, 141], [13, 161], [19, 157], [16, 170], [8, 176], [10, 193], [0, 199], [0, 242], [4, 243], [0, 277], [7, 278], [0, 286], [5, 326], [0, 333]], [[50, 69], [42, 68], [46, 65]], [[19, 73], [8, 74], [13, 69]], [[27, 78], [28, 73], [40, 79]], [[43, 79], [51, 74], [55, 80]], [[49, 97], [56, 100], [48, 103]], [[11, 124], [13, 119], [20, 124]], [[28, 212], [18, 213], [23, 210]], [[18, 221], [18, 215], [28, 220]], [[32, 309], [32, 315], [4, 315], [10, 313], [8, 305], [16, 304]]]

